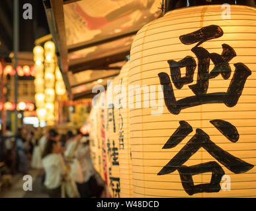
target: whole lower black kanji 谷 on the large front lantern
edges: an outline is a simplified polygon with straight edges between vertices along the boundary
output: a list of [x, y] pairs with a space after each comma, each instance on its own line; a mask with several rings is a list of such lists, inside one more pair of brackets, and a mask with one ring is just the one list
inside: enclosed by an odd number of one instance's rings
[[[189, 123], [186, 121], [180, 121], [179, 123], [180, 126], [173, 135], [171, 135], [169, 140], [167, 140], [163, 148], [166, 149], [177, 146], [177, 144], [186, 138], [187, 135], [192, 133], [192, 127]], [[237, 142], [239, 139], [239, 133], [231, 123], [220, 119], [214, 119], [210, 121], [210, 123], [212, 123], [220, 133], [226, 136], [228, 140]], [[158, 175], [173, 173], [175, 170], [179, 171], [183, 188], [189, 195], [220, 191], [220, 181], [225, 172], [217, 162], [207, 162], [195, 166], [183, 166], [183, 164], [185, 164], [185, 162], [187, 162], [187, 160], [189, 160], [189, 158], [191, 158], [191, 156], [200, 148], [204, 148], [212, 157], [216, 158], [218, 162], [234, 173], [244, 173], [254, 167], [253, 165], [232, 156], [232, 154], [214, 144], [204, 131], [196, 129], [196, 134], [192, 136], [189, 142], [187, 142], [187, 144], [168, 162], [168, 164], [159, 171]], [[212, 172], [212, 179], [210, 183], [194, 185], [192, 175], [206, 172]]]

